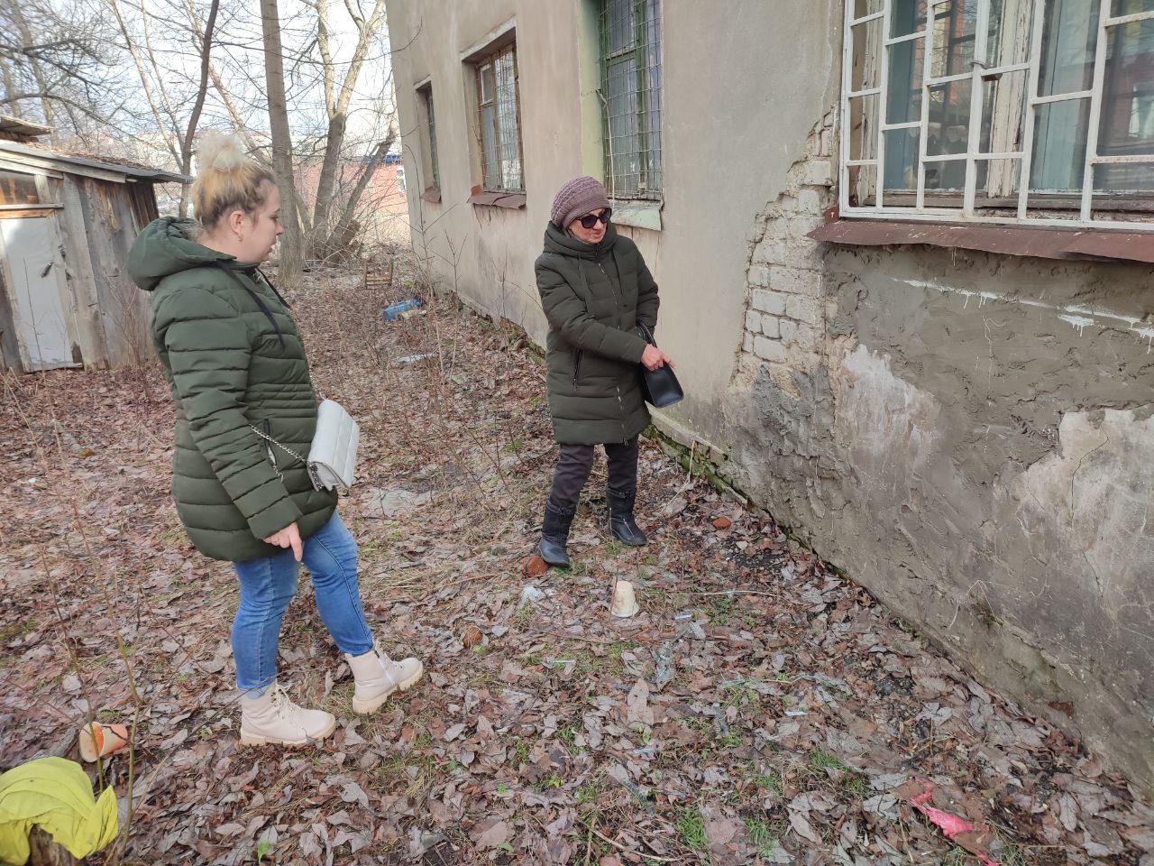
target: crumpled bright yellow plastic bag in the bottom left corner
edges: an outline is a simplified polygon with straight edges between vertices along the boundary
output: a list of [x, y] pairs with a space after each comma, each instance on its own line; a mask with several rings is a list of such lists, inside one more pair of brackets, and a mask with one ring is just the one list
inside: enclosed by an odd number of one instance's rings
[[75, 761], [29, 761], [0, 776], [0, 861], [28, 863], [28, 834], [37, 824], [73, 857], [88, 857], [117, 837], [117, 792], [107, 787], [95, 798]]

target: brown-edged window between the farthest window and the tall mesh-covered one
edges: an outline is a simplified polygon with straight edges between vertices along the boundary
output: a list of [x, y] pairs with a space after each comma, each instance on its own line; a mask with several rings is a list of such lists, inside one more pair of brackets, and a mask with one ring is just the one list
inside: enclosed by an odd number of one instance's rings
[[517, 51], [510, 45], [477, 64], [481, 166], [487, 192], [523, 192]]

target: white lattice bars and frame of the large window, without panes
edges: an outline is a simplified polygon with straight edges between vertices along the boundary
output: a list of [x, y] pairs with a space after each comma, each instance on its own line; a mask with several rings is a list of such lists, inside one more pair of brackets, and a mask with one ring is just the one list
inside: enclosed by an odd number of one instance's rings
[[[876, 0], [877, 9], [870, 10], [865, 7], [865, 14], [855, 16], [855, 6], [859, 0], [844, 0], [844, 33], [842, 33], [842, 73], [840, 94], [840, 118], [842, 135], [839, 158], [839, 215], [845, 217], [872, 217], [891, 218], [901, 221], [929, 221], [938, 223], [962, 223], [962, 224], [1007, 224], [1007, 225], [1031, 225], [1044, 227], [1064, 229], [1126, 229], [1138, 231], [1154, 231], [1154, 219], [1149, 222], [1139, 219], [1126, 219], [1125, 214], [1139, 211], [1154, 217], [1154, 193], [1149, 196], [1145, 192], [1103, 193], [1094, 191], [1094, 171], [1101, 165], [1125, 165], [1141, 164], [1152, 166], [1154, 170], [1154, 148], [1148, 154], [1130, 155], [1102, 155], [1099, 151], [1099, 133], [1103, 127], [1102, 104], [1104, 97], [1104, 80], [1107, 68], [1107, 47], [1110, 31], [1117, 27], [1154, 20], [1154, 10], [1140, 12], [1126, 15], [1112, 15], [1116, 0], [1101, 0], [1099, 7], [1099, 18], [1096, 22], [1095, 52], [1093, 59], [1093, 80], [1088, 90], [1077, 92], [1063, 92], [1054, 96], [1039, 96], [1040, 69], [1043, 64], [1042, 33], [1046, 22], [1044, 0], [1034, 0], [1033, 8], [1027, 9], [1028, 20], [1032, 22], [1028, 55], [1024, 62], [1009, 64], [1005, 66], [986, 67], [981, 62], [973, 62], [969, 72], [950, 75], [950, 69], [943, 70], [944, 75], [934, 77], [934, 47], [935, 47], [935, 21], [939, 9], [950, 0], [927, 0], [926, 21], [922, 29], [909, 35], [892, 36], [891, 13], [896, 0]], [[986, 51], [986, 43], [989, 35], [990, 0], [979, 0], [976, 24], [975, 24], [975, 52], [981, 58]], [[862, 87], [853, 90], [854, 64], [859, 57], [854, 45], [854, 28], [869, 27], [870, 22], [877, 22], [879, 38], [877, 46], [865, 43], [862, 59], [868, 57], [874, 48], [877, 52], [877, 80], [870, 87]], [[1092, 22], [1093, 23], [1093, 22]], [[922, 80], [920, 82], [921, 105], [920, 118], [906, 122], [885, 122], [890, 117], [887, 113], [887, 97], [890, 90], [890, 52], [893, 45], [902, 42], [922, 42]], [[982, 152], [980, 137], [983, 118], [983, 82], [994, 81], [997, 76], [1007, 73], [1024, 72], [1026, 77], [1025, 92], [1021, 103], [1018, 104], [1018, 112], [1021, 117], [1020, 149], [1007, 152]], [[931, 88], [941, 88], [952, 81], [969, 81], [969, 118], [967, 125], [967, 143], [965, 151], [946, 155], [927, 154], [927, 142], [930, 127], [930, 96]], [[850, 158], [850, 136], [855, 134], [853, 126], [850, 99], [862, 102], [875, 99], [872, 128], [869, 130], [869, 150], [863, 151], [861, 158]], [[1034, 130], [1036, 127], [1036, 114], [1040, 106], [1074, 100], [1089, 100], [1089, 119], [1086, 135], [1086, 155], [1081, 166], [1081, 188], [1072, 193], [1033, 191], [1031, 180], [1031, 167], [1034, 156]], [[913, 113], [917, 113], [915, 110]], [[1012, 118], [1011, 118], [1012, 119]], [[916, 129], [919, 133], [919, 154], [916, 162], [916, 181], [914, 189], [894, 191], [885, 188], [885, 136], [886, 133], [900, 129]], [[991, 148], [992, 150], [992, 148]], [[927, 188], [926, 169], [937, 162], [965, 162], [966, 179], [961, 191], [943, 191]], [[1007, 204], [1006, 210], [1014, 211], [1013, 216], [976, 212], [977, 207], [997, 207], [997, 196], [987, 196], [984, 189], [976, 186], [979, 163], [994, 160], [1009, 160], [1018, 163], [1018, 189], [1013, 195], [1003, 196], [1002, 204]], [[852, 203], [850, 194], [853, 187], [850, 174], [853, 169], [856, 173], [874, 172], [874, 203]], [[887, 204], [887, 200], [909, 201], [913, 206]], [[931, 201], [927, 201], [927, 200]], [[956, 204], [960, 202], [960, 207]], [[947, 207], [953, 204], [953, 207]], [[1052, 216], [1054, 211], [1064, 209], [1076, 209], [1076, 218], [1061, 218]], [[1094, 215], [1110, 215], [1108, 218], [1094, 218]]]

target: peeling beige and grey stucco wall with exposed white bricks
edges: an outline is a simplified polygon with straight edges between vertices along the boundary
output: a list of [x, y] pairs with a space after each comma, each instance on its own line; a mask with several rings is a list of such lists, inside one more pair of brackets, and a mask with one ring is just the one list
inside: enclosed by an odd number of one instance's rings
[[[838, 0], [665, 0], [661, 286], [688, 398], [661, 426], [975, 675], [1154, 786], [1154, 270], [834, 247]], [[586, 0], [390, 0], [414, 244], [542, 339], [554, 191], [602, 172]], [[514, 21], [524, 209], [466, 203], [470, 67]], [[412, 87], [436, 104], [420, 200]]]

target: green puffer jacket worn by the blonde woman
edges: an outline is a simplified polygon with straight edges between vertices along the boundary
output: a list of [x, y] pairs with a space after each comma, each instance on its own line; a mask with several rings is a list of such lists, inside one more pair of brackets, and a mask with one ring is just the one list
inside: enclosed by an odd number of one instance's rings
[[261, 539], [293, 521], [310, 536], [337, 497], [314, 490], [302, 463], [252, 430], [308, 455], [316, 395], [297, 326], [255, 266], [193, 241], [193, 227], [150, 223], [128, 269], [152, 294], [152, 339], [177, 404], [177, 514], [201, 553], [243, 562], [279, 552]]

